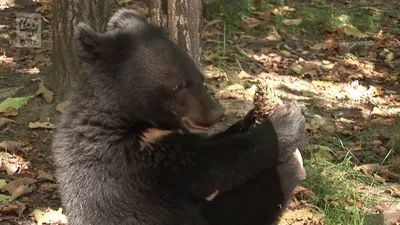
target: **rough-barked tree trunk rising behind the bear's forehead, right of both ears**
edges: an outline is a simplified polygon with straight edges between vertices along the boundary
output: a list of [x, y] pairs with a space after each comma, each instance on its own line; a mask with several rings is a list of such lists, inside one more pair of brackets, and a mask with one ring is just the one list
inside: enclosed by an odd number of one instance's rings
[[149, 0], [150, 21], [166, 27], [201, 68], [202, 0]]

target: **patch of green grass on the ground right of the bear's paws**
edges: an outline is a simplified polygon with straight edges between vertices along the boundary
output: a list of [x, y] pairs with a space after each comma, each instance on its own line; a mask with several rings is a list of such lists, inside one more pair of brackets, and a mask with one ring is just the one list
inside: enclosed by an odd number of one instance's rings
[[[307, 178], [303, 185], [317, 195], [308, 203], [318, 206], [323, 211], [327, 225], [363, 225], [365, 215], [370, 214], [378, 202], [393, 201], [388, 196], [368, 192], [370, 189], [382, 189], [382, 183], [353, 169], [354, 161], [358, 160], [345, 143], [346, 141], [339, 136], [321, 139], [320, 144], [326, 145], [325, 148], [311, 149], [314, 153], [305, 160]], [[347, 153], [339, 162], [328, 162], [320, 157], [324, 154], [315, 154], [315, 150], [334, 152], [338, 149]], [[390, 148], [385, 157], [376, 162], [382, 166], [392, 154], [393, 148]], [[365, 190], [360, 190], [361, 186], [364, 186]]]

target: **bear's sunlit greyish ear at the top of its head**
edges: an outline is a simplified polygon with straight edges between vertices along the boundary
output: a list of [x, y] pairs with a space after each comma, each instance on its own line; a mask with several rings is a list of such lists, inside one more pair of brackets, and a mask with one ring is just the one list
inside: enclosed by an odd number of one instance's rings
[[131, 27], [137, 30], [147, 26], [147, 20], [139, 12], [132, 9], [118, 10], [108, 21], [107, 31], [112, 31], [118, 28]]

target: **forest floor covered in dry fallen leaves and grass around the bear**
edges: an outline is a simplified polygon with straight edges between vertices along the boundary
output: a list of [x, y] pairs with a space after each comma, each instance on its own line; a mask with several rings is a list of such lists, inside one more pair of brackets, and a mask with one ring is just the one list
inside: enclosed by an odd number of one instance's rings
[[[0, 6], [0, 224], [65, 222], [49, 155], [68, 101], [46, 83], [46, 2]], [[220, 129], [253, 107], [258, 79], [304, 107], [307, 179], [280, 224], [400, 224], [400, 2], [238, 2], [208, 5], [203, 70]], [[42, 14], [41, 48], [11, 44], [17, 12]]]

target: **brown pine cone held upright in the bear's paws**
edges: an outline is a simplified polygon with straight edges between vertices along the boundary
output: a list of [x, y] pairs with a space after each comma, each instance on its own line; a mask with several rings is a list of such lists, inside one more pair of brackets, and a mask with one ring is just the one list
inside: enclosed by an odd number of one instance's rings
[[254, 94], [253, 104], [256, 114], [256, 124], [262, 123], [279, 105], [282, 100], [276, 95], [274, 90], [266, 83], [258, 81], [257, 90]]

